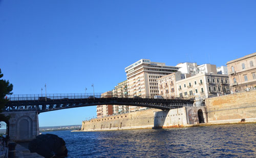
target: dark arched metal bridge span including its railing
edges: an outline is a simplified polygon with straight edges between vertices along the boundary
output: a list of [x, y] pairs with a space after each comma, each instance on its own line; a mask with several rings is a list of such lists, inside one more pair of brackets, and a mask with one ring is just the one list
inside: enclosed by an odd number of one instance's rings
[[47, 112], [59, 109], [84, 107], [93, 105], [130, 105], [142, 106], [149, 108], [157, 108], [162, 110], [180, 108], [183, 106], [193, 106], [194, 99], [189, 98], [172, 98], [172, 99], [154, 99], [154, 98], [141, 98], [141, 97], [115, 97], [115, 96], [81, 96], [70, 97], [62, 95], [62, 97], [10, 97], [6, 105], [6, 111], [11, 110], [36, 110], [38, 113]]

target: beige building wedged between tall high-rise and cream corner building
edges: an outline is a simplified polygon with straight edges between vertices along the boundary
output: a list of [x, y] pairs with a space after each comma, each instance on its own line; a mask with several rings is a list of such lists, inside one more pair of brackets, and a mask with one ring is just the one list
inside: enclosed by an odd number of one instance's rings
[[157, 79], [159, 95], [164, 98], [176, 97], [176, 81], [179, 81], [181, 79], [181, 72], [165, 75]]

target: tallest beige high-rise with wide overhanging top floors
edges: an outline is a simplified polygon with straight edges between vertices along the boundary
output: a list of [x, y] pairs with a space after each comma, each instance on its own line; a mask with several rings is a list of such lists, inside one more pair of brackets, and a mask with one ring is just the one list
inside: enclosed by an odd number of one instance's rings
[[[141, 59], [125, 67], [129, 97], [157, 96], [159, 94], [157, 79], [177, 71], [176, 66], [166, 66], [165, 63], [151, 62], [148, 59]], [[130, 111], [143, 108], [130, 106]]]

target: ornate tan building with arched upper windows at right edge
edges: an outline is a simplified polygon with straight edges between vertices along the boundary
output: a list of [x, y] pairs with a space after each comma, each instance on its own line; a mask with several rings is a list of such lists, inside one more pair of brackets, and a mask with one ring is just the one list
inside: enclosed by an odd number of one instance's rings
[[226, 65], [232, 93], [256, 89], [256, 53], [228, 61]]

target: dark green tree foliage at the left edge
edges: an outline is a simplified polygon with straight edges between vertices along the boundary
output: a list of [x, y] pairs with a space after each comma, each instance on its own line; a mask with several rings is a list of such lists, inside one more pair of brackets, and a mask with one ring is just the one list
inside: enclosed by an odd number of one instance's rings
[[[2, 74], [0, 69], [0, 79], [4, 76]], [[7, 80], [0, 80], [0, 112], [3, 111], [3, 108], [5, 107], [5, 104], [8, 102], [8, 100], [5, 98], [6, 95], [11, 95], [12, 93], [13, 85], [10, 84], [10, 82]], [[4, 115], [0, 114], [0, 121], [4, 121], [6, 118]]]

